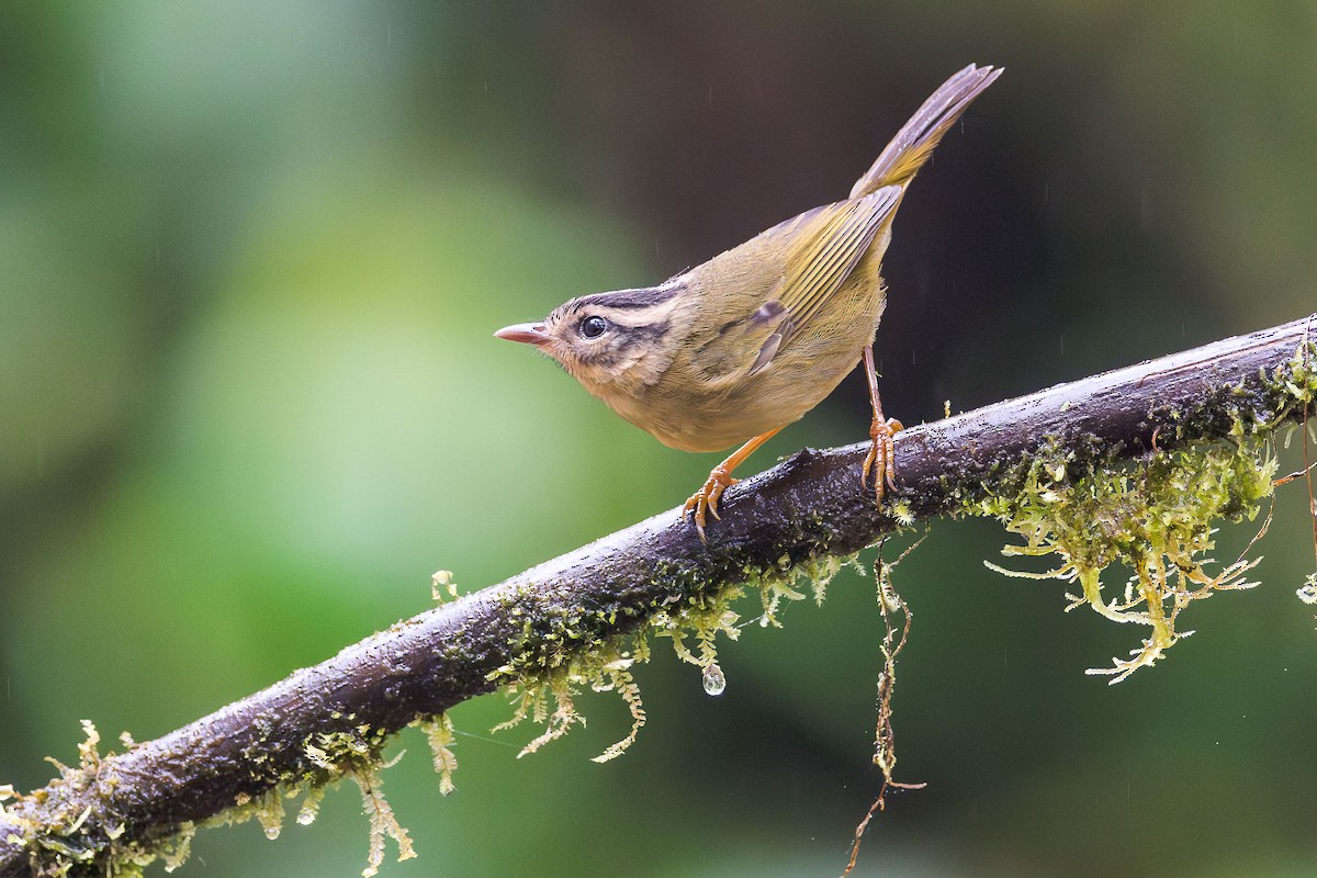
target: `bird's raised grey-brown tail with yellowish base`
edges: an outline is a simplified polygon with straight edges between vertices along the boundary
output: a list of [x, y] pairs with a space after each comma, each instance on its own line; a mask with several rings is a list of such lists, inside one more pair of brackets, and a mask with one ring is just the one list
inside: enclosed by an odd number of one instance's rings
[[932, 149], [942, 140], [969, 103], [1001, 76], [1001, 67], [969, 65], [942, 83], [923, 107], [910, 117], [864, 176], [851, 188], [851, 197], [874, 192], [884, 186], [905, 186], [928, 161]]

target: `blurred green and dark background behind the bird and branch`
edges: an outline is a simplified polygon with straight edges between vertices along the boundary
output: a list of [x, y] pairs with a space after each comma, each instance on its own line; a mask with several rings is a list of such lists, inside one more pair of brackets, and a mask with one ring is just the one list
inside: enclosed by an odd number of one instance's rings
[[[886, 259], [906, 424], [1313, 309], [1317, 5], [7, 3], [0, 28], [0, 782], [141, 740], [429, 603], [666, 509], [715, 462], [490, 337], [847, 192], [947, 75], [1006, 75]], [[748, 471], [864, 437], [848, 380]], [[1296, 461], [1291, 453], [1289, 465]], [[982, 567], [938, 524], [898, 571], [906, 781], [860, 875], [1317, 874], [1317, 633], [1300, 484], [1263, 586], [1108, 687], [1142, 632]], [[1222, 534], [1230, 558], [1249, 534]], [[515, 760], [498, 696], [385, 775], [389, 875], [830, 875], [878, 782], [878, 616], [840, 577], [724, 646], [665, 649]], [[755, 604], [745, 604], [753, 615]], [[396, 749], [396, 748], [395, 748]], [[184, 874], [354, 875], [354, 790], [309, 828], [202, 833]], [[159, 869], [155, 866], [154, 869]]]

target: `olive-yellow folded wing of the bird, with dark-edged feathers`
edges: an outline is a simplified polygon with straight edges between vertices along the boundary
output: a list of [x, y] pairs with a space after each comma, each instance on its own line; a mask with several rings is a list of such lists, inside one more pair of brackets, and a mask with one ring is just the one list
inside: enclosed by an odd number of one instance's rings
[[761, 357], [764, 362], [756, 363], [757, 369], [766, 366], [772, 354], [790, 345], [827, 308], [900, 200], [901, 187], [885, 186], [861, 199], [830, 204], [813, 217], [814, 228], [788, 257], [788, 270], [776, 294], [785, 312], [778, 328], [781, 338], [770, 340], [773, 350], [768, 358]]

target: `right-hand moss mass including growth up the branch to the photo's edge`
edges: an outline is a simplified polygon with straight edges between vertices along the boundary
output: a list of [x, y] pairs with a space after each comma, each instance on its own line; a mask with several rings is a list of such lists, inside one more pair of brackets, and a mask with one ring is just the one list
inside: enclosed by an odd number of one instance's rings
[[[1087, 604], [1112, 621], [1150, 629], [1130, 658], [1115, 658], [1112, 667], [1090, 674], [1109, 674], [1115, 683], [1152, 665], [1192, 633], [1177, 627], [1189, 604], [1256, 584], [1245, 581], [1255, 559], [1217, 566], [1208, 555], [1218, 523], [1252, 520], [1272, 495], [1276, 459], [1270, 432], [1297, 412], [1306, 413], [1317, 396], [1310, 345], [1264, 379], [1260, 392], [1222, 388], [1233, 400], [1225, 407], [1231, 419], [1227, 429], [1208, 428], [1206, 421], [1220, 420], [1222, 411], [1212, 398], [1200, 411], [1169, 412], [1173, 426], [1167, 441], [1176, 446], [1155, 446], [1138, 463], [1121, 466], [1109, 453], [1089, 453], [1073, 442], [1063, 449], [1051, 441], [1027, 462], [994, 474], [988, 482], [994, 487], [961, 499], [960, 513], [996, 517], [1023, 537], [1002, 554], [1056, 562], [1040, 574], [989, 567], [1076, 584], [1067, 609]], [[1192, 438], [1221, 433], [1226, 438]], [[1127, 577], [1109, 596], [1104, 574], [1113, 565]]]

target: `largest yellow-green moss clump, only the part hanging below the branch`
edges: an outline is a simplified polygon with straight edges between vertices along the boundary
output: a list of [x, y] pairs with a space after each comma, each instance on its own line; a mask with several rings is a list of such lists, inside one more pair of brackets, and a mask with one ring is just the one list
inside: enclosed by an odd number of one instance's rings
[[[1213, 567], [1218, 521], [1256, 516], [1271, 496], [1276, 461], [1266, 442], [1217, 442], [1156, 452], [1134, 467], [1090, 470], [1072, 477], [1062, 455], [1035, 458], [1023, 490], [984, 502], [982, 511], [1025, 538], [1005, 555], [1051, 555], [1058, 565], [1043, 574], [1077, 584], [1067, 609], [1088, 604], [1106, 619], [1150, 628], [1129, 659], [1109, 669], [1119, 682], [1162, 658], [1191, 632], [1177, 629], [1180, 612], [1217, 591], [1247, 588], [1245, 574], [1256, 563], [1241, 558]], [[1119, 562], [1131, 573], [1115, 596], [1104, 595], [1102, 574]]]

